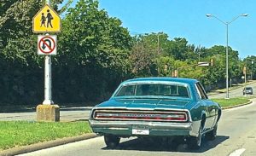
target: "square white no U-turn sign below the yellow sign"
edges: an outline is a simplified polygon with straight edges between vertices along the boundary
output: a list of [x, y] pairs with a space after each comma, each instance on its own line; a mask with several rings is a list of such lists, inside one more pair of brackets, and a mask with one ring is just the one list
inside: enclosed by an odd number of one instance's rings
[[38, 35], [38, 55], [56, 55], [57, 54], [57, 36]]

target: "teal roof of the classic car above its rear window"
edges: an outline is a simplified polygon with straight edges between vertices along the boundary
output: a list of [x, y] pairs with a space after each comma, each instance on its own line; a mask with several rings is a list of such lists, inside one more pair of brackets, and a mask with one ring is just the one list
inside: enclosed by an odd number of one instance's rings
[[130, 82], [140, 82], [140, 81], [160, 81], [160, 82], [177, 82], [177, 83], [185, 83], [185, 84], [195, 84], [198, 82], [196, 79], [192, 78], [167, 78], [167, 77], [156, 77], [156, 78], [133, 78], [128, 79], [123, 83], [130, 83]]

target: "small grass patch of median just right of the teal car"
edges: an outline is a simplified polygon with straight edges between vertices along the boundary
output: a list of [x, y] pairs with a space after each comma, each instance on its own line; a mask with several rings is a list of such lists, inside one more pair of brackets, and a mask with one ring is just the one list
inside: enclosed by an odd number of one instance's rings
[[247, 103], [249, 100], [248, 98], [240, 97], [230, 99], [212, 99], [212, 101], [217, 102], [221, 107], [231, 107]]

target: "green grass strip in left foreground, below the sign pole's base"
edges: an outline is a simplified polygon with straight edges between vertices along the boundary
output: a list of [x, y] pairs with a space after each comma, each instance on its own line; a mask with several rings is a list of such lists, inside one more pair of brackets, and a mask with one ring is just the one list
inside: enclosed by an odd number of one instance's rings
[[0, 121], [0, 151], [90, 132], [90, 126], [85, 121], [68, 123]]

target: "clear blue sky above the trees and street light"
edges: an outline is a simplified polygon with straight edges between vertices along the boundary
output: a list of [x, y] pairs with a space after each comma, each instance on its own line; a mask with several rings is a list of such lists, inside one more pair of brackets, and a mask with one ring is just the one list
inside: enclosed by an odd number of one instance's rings
[[249, 14], [229, 24], [228, 41], [241, 59], [256, 55], [255, 0], [99, 0], [99, 5], [110, 17], [121, 20], [131, 35], [164, 32], [169, 39], [186, 38], [189, 44], [206, 48], [225, 46], [227, 41], [226, 26], [206, 14], [224, 22]]

